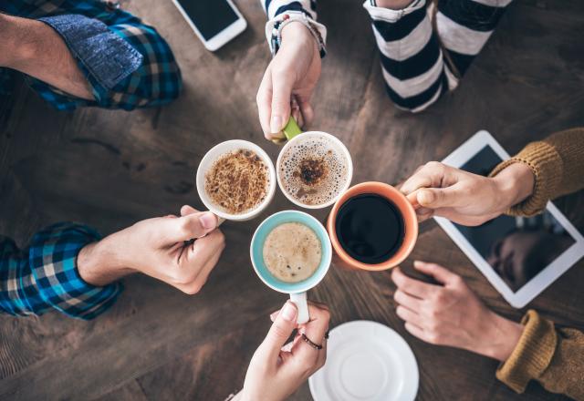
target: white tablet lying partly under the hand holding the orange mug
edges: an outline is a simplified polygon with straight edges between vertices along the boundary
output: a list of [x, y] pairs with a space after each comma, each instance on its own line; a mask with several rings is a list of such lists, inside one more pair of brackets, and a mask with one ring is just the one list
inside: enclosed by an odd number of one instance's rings
[[[488, 175], [509, 155], [479, 131], [443, 163]], [[508, 303], [522, 308], [584, 256], [584, 238], [552, 202], [530, 218], [502, 215], [477, 227], [435, 217]]]

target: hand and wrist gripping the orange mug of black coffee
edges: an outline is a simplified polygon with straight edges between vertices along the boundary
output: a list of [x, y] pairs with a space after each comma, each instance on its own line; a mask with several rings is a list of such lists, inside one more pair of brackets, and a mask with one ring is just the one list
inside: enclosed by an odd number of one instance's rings
[[480, 225], [525, 200], [533, 191], [534, 176], [526, 164], [514, 163], [494, 178], [430, 161], [401, 185], [416, 208], [418, 221], [433, 215], [463, 225]]

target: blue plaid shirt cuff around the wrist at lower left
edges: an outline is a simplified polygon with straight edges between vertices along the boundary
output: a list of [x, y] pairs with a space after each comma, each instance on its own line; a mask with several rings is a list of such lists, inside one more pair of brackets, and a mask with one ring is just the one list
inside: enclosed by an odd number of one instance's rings
[[32, 284], [44, 303], [86, 320], [115, 303], [122, 290], [120, 283], [97, 287], [83, 281], [78, 273], [78, 252], [96, 240], [96, 231], [74, 223], [57, 223], [35, 234], [28, 262]]

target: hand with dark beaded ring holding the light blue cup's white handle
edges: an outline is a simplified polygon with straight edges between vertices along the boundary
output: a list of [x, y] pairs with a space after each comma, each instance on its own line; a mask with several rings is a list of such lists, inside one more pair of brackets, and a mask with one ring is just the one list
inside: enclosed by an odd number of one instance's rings
[[[270, 317], [274, 324], [266, 339], [255, 351], [245, 375], [244, 389], [238, 400], [280, 401], [286, 399], [315, 373], [327, 360], [328, 308], [317, 303], [308, 303], [310, 321], [297, 324], [297, 308], [287, 301], [284, 307]], [[294, 329], [298, 332], [294, 341], [286, 344]], [[316, 344], [317, 350], [301, 337], [304, 333]], [[286, 344], [286, 345], [285, 345]]]

